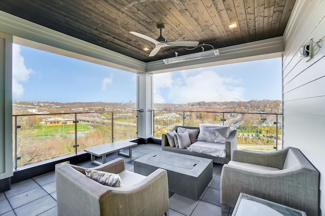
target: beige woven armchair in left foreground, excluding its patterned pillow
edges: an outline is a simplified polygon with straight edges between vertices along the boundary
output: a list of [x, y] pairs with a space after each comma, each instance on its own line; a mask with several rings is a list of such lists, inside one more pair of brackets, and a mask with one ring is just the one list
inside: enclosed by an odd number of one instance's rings
[[85, 175], [85, 168], [58, 166], [56, 194], [58, 215], [167, 215], [169, 208], [167, 172], [158, 169], [143, 176], [124, 169], [124, 160], [115, 159], [92, 168], [118, 173], [123, 187], [109, 187]]

